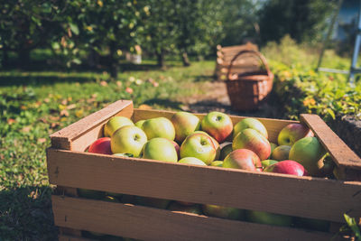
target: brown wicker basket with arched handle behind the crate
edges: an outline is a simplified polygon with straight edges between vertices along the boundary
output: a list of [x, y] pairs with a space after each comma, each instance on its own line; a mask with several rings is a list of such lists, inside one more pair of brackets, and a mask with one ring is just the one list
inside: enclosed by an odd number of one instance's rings
[[[232, 74], [233, 63], [245, 54], [255, 55], [264, 64], [265, 70]], [[235, 110], [253, 110], [259, 107], [273, 87], [273, 73], [267, 60], [258, 51], [239, 51], [231, 60], [227, 73], [227, 93]]]

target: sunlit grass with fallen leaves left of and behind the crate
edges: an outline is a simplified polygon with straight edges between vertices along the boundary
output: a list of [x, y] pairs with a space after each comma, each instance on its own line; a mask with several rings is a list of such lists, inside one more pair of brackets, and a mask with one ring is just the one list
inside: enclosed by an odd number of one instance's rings
[[[45, 149], [49, 134], [117, 99], [162, 109], [182, 108], [180, 97], [202, 94], [214, 61], [189, 68], [106, 72], [0, 72], [0, 240], [55, 240]], [[141, 66], [142, 68], [142, 66]]]

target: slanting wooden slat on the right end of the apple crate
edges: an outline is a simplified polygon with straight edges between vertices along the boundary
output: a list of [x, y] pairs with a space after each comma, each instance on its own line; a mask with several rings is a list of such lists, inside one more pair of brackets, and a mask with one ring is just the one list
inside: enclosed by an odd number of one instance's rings
[[319, 142], [329, 151], [338, 166], [361, 171], [361, 159], [319, 116], [302, 114], [301, 122], [310, 127], [313, 133], [319, 138]]

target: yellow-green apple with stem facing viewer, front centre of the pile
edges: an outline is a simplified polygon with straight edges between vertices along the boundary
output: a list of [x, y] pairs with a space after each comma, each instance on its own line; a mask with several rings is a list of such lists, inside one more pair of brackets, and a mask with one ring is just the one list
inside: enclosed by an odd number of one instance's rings
[[180, 145], [180, 158], [192, 156], [206, 164], [215, 160], [216, 153], [216, 148], [207, 134], [190, 134]]

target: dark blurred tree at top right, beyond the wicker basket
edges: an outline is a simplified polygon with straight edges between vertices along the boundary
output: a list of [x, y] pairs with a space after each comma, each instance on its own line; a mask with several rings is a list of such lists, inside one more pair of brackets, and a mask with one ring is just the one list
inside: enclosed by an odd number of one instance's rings
[[297, 42], [319, 41], [335, 4], [323, 0], [268, 0], [259, 12], [262, 42], [278, 42], [286, 34]]

